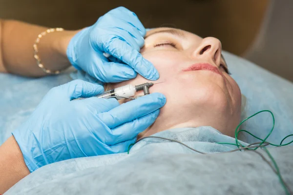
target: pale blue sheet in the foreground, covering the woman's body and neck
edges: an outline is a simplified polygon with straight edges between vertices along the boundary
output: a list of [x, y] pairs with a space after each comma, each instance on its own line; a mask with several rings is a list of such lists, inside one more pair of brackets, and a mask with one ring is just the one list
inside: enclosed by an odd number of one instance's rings
[[[44, 166], [4, 195], [284, 194], [278, 177], [257, 154], [214, 154], [236, 146], [217, 144], [235, 143], [235, 139], [211, 127], [171, 129], [154, 136], [175, 139], [209, 154], [198, 154], [175, 142], [146, 138], [136, 143], [129, 155], [76, 158]], [[293, 147], [272, 149], [283, 178], [293, 186]]]

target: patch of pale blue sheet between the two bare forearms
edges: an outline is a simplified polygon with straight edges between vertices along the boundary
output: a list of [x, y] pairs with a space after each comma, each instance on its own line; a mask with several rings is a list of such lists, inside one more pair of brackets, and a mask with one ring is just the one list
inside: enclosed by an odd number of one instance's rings
[[70, 80], [69, 75], [23, 78], [0, 74], [0, 145], [31, 115], [51, 88]]

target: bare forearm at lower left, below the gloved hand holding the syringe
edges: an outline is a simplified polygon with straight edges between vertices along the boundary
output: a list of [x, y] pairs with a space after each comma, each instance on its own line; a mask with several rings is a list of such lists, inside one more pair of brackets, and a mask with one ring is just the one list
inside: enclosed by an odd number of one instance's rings
[[30, 172], [13, 136], [0, 146], [0, 156], [0, 194], [3, 194]]

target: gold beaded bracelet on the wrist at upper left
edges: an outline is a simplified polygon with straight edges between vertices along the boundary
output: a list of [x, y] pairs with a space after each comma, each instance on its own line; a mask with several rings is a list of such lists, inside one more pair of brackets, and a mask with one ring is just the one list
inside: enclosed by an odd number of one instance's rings
[[38, 64], [38, 66], [45, 72], [45, 73], [47, 73], [47, 74], [54, 74], [54, 75], [58, 75], [58, 74], [60, 74], [60, 70], [57, 70], [57, 71], [51, 71], [51, 70], [48, 70], [48, 69], [46, 69], [45, 67], [44, 67], [44, 65], [42, 64], [42, 62], [41, 62], [41, 59], [40, 59], [40, 57], [38, 56], [38, 52], [39, 52], [39, 50], [38, 50], [38, 43], [40, 42], [40, 39], [43, 37], [43, 36], [45, 36], [45, 35], [47, 35], [47, 34], [49, 34], [49, 33], [53, 33], [53, 32], [60, 32], [60, 31], [63, 31], [64, 29], [63, 28], [49, 28], [48, 30], [46, 30], [46, 31], [44, 31], [44, 32], [42, 32], [42, 33], [40, 33], [39, 35], [38, 35], [38, 38], [35, 40], [35, 43], [34, 43], [34, 45], [33, 45], [33, 47], [34, 47], [34, 58], [37, 60], [37, 64]]

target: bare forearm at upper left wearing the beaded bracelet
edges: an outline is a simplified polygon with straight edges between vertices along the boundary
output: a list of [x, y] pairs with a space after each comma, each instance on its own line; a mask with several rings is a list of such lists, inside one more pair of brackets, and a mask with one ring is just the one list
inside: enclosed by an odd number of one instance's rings
[[[1, 20], [0, 30], [0, 72], [28, 77], [45, 75], [34, 59], [33, 44], [47, 27], [15, 20]], [[76, 33], [77, 31], [54, 32], [42, 37], [38, 49], [39, 57], [46, 69], [55, 71], [70, 66], [66, 49]]]

